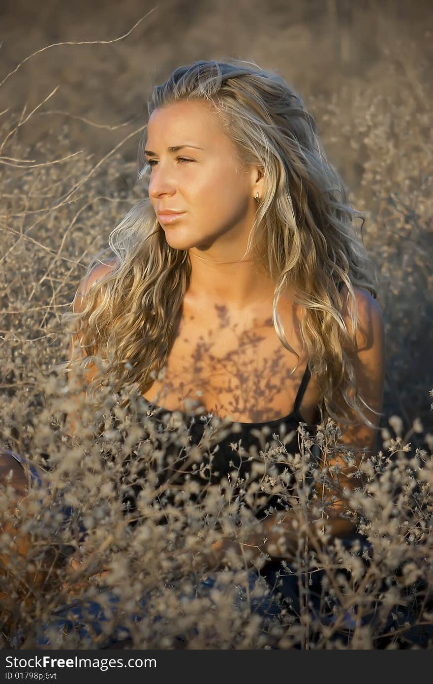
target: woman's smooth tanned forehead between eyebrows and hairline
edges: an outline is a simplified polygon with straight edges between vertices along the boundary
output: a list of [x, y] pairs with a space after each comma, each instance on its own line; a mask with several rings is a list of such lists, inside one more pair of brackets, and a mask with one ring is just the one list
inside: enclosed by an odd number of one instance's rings
[[[211, 105], [203, 101], [181, 101], [154, 109], [147, 125], [147, 145], [155, 151], [161, 146], [197, 144], [209, 147], [209, 142], [219, 143], [228, 137], [218, 121]], [[201, 144], [200, 144], [201, 143]]]

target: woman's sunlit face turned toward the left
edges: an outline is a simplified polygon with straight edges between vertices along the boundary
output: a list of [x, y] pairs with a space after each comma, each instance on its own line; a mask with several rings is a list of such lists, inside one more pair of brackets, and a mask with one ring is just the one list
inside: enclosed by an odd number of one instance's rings
[[[168, 151], [170, 146], [183, 147]], [[239, 246], [242, 256], [257, 205], [254, 194], [262, 194], [258, 170], [241, 163], [210, 105], [181, 101], [155, 109], [145, 147], [155, 213], [181, 212], [170, 222], [158, 216], [168, 244], [218, 254]]]

